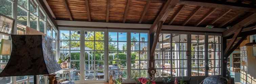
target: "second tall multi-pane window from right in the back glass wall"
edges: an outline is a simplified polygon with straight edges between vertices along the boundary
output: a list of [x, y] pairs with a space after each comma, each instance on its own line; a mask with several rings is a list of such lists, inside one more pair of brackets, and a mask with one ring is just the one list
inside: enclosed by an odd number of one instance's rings
[[191, 35], [191, 75], [205, 76], [205, 35]]

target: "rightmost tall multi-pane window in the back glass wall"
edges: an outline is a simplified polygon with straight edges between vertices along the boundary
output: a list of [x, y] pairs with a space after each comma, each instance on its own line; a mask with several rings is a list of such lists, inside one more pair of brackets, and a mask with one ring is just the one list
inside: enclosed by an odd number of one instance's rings
[[209, 75], [221, 75], [221, 41], [220, 36], [208, 36]]

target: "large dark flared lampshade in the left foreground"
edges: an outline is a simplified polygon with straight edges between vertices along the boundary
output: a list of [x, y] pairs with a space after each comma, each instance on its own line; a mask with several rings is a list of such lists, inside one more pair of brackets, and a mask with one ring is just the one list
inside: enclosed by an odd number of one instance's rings
[[12, 53], [0, 77], [46, 75], [59, 70], [50, 37], [12, 35]]

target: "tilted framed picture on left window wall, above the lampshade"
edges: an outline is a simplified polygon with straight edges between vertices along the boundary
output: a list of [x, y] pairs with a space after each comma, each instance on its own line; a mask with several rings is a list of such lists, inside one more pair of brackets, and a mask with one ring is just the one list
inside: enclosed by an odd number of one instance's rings
[[6, 34], [12, 34], [14, 28], [15, 19], [0, 14], [0, 32]]

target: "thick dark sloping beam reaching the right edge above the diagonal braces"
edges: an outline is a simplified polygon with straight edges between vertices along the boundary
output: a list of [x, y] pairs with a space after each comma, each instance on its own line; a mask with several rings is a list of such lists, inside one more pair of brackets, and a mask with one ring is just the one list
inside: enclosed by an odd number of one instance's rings
[[247, 18], [243, 19], [241, 22], [237, 23], [236, 25], [234, 25], [233, 27], [231, 27], [230, 29], [226, 30], [225, 32], [222, 33], [223, 37], [227, 37], [230, 36], [232, 34], [235, 33], [235, 31], [238, 28], [242, 28], [242, 27], [246, 27], [250, 24], [252, 24], [253, 22], [256, 21], [256, 13], [253, 13], [252, 15], [248, 16]]

